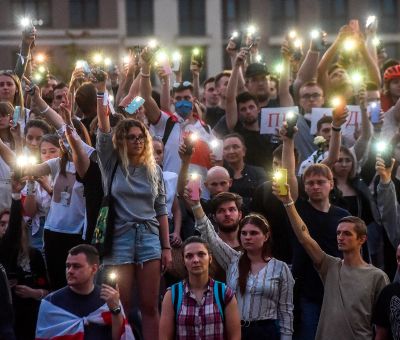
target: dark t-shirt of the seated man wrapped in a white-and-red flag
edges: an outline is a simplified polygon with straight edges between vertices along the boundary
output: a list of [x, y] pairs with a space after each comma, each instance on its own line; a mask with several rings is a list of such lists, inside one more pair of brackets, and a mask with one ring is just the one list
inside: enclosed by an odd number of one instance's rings
[[[100, 287], [95, 286], [88, 295], [80, 295], [69, 287], [64, 287], [46, 297], [53, 305], [56, 305], [79, 317], [88, 316], [104, 305], [100, 298]], [[90, 323], [85, 325], [85, 340], [109, 340], [111, 339], [111, 327]]]

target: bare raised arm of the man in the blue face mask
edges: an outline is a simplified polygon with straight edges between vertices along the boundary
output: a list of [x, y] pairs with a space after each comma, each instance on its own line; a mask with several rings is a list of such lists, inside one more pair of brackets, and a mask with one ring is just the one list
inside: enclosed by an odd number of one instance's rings
[[145, 100], [143, 105], [147, 119], [151, 124], [156, 124], [160, 119], [161, 112], [156, 101], [151, 96], [150, 61], [151, 54], [146, 47], [141, 54], [140, 94]]

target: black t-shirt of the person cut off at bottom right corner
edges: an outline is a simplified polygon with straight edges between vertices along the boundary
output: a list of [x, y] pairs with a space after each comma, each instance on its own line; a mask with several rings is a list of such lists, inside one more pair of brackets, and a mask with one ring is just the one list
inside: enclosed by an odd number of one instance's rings
[[372, 323], [388, 330], [388, 340], [400, 339], [399, 282], [383, 288], [372, 314]]

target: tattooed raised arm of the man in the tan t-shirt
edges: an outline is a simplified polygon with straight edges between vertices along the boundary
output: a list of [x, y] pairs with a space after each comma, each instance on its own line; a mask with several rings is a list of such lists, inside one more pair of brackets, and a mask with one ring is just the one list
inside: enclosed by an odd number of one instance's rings
[[303, 246], [304, 250], [311, 257], [314, 265], [320, 267], [322, 260], [324, 259], [324, 251], [318, 245], [318, 243], [310, 236], [307, 226], [301, 219], [299, 213], [296, 210], [296, 206], [290, 195], [290, 189], [288, 188], [288, 194], [285, 196], [279, 195], [279, 187], [273, 183], [272, 190], [274, 195], [283, 203], [286, 208], [290, 223], [299, 243]]

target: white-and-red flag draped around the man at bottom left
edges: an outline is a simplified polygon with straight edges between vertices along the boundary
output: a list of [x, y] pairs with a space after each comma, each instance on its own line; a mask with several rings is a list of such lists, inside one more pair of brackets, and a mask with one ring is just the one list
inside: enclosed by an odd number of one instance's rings
[[[134, 340], [132, 329], [124, 316], [120, 340]], [[86, 317], [76, 316], [47, 300], [40, 304], [36, 340], [83, 340], [84, 326], [89, 323], [111, 326], [112, 315], [104, 304]]]

